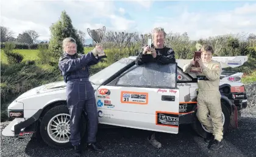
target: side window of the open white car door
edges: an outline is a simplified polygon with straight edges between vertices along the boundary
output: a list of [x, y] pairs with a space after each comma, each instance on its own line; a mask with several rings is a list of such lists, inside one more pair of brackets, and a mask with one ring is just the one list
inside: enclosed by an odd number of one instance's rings
[[138, 87], [176, 87], [176, 64], [134, 65], [129, 72], [121, 76], [117, 85], [131, 85]]

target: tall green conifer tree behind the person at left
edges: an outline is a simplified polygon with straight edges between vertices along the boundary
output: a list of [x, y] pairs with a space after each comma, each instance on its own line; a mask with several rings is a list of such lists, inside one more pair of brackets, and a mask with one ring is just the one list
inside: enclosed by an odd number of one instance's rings
[[71, 18], [65, 10], [62, 11], [60, 19], [50, 27], [51, 39], [49, 41], [49, 50], [52, 56], [59, 58], [63, 53], [62, 41], [71, 37], [76, 40], [77, 53], [84, 53], [84, 47], [80, 41], [77, 30], [73, 27]]

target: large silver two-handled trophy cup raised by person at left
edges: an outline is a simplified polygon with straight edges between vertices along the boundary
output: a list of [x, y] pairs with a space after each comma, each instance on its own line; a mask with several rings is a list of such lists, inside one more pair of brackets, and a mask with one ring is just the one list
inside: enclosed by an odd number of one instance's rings
[[[88, 35], [91, 36], [91, 38], [93, 38], [93, 40], [96, 42], [96, 45], [99, 45], [99, 46], [103, 46], [101, 44], [101, 41], [102, 41], [102, 38], [105, 34], [105, 26], [103, 26], [103, 28], [99, 28], [99, 29], [95, 29], [95, 30], [90, 30], [90, 28], [87, 28], [87, 32], [88, 32]], [[107, 58], [106, 54], [104, 51], [100, 52], [98, 54], [98, 58]]]

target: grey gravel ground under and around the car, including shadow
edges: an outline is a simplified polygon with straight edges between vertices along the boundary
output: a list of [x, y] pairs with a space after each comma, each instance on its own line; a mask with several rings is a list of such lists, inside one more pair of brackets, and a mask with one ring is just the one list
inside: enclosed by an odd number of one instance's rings
[[[98, 141], [103, 152], [84, 150], [84, 156], [256, 156], [255, 86], [247, 85], [249, 104], [238, 122], [239, 128], [224, 135], [224, 147], [210, 151], [204, 140], [194, 133], [190, 125], [180, 126], [179, 134], [160, 133], [162, 149], [154, 149], [146, 141], [145, 130], [118, 128], [99, 129]], [[9, 122], [1, 122], [2, 129]], [[7, 138], [1, 134], [1, 156], [72, 156], [70, 149], [52, 149], [41, 140]]]

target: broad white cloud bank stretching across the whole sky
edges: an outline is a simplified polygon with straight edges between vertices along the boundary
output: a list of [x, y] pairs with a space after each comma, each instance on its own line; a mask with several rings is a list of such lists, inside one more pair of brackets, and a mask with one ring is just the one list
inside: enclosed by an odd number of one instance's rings
[[[33, 29], [40, 34], [38, 39], [49, 39], [49, 27], [56, 22], [62, 10], [71, 17], [74, 27], [87, 34], [87, 28], [102, 28], [106, 31], [124, 31], [148, 33], [154, 27], [164, 27], [166, 32], [188, 32], [191, 39], [226, 33], [248, 32], [256, 34], [256, 4], [244, 4], [241, 7], [218, 13], [188, 12], [186, 5], [171, 6], [176, 16], [155, 18], [155, 24], [144, 24], [124, 16], [133, 12], [126, 7], [115, 7], [114, 1], [36, 1], [2, 0], [1, 25], [18, 33]], [[153, 1], [129, 1], [142, 10], [149, 10]], [[166, 7], [167, 8], [167, 7]], [[139, 12], [140, 13], [140, 12]], [[180, 13], [180, 14], [177, 14]], [[141, 15], [143, 16], [142, 13]], [[156, 14], [157, 16], [157, 14]], [[138, 30], [140, 26], [140, 30]], [[90, 38], [87, 35], [87, 38]]]

